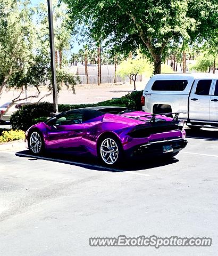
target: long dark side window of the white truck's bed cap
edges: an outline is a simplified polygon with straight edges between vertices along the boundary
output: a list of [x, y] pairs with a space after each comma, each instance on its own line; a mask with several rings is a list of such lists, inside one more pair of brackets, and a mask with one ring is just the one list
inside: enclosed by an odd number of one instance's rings
[[153, 91], [184, 91], [187, 80], [156, 80], [152, 85]]

